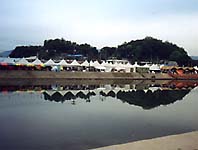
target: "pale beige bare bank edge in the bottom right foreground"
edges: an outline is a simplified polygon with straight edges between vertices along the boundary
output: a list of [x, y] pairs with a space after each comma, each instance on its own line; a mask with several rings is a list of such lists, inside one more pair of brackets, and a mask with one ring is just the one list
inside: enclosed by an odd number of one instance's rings
[[198, 131], [137, 141], [95, 150], [198, 150]]

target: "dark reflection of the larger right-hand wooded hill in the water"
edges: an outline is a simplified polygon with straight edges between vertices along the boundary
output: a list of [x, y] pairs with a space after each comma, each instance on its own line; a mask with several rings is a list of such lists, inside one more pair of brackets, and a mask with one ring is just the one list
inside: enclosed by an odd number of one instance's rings
[[182, 100], [190, 90], [157, 90], [144, 92], [118, 92], [117, 98], [130, 105], [140, 106], [143, 109], [152, 109], [160, 105], [169, 105], [177, 100]]

